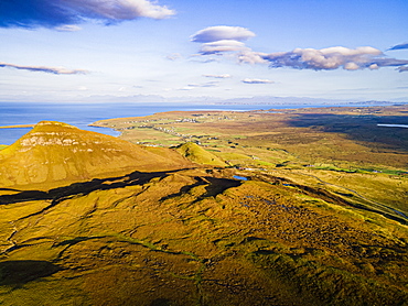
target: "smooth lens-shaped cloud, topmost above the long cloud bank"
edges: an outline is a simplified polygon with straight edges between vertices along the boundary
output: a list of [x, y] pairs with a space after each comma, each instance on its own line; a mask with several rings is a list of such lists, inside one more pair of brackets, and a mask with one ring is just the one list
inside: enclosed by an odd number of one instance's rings
[[217, 41], [247, 41], [255, 33], [241, 26], [216, 25], [196, 32], [191, 40], [196, 43], [211, 43]]

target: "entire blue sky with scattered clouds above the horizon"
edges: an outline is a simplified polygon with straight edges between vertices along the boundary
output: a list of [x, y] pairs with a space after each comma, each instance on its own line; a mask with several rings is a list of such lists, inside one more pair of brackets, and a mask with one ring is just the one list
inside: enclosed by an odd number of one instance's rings
[[0, 0], [0, 101], [408, 102], [406, 0]]

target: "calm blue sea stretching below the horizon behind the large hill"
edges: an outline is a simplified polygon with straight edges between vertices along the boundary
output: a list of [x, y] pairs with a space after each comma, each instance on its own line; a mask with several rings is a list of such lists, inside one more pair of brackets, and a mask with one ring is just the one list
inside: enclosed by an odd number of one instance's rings
[[[118, 136], [120, 133], [108, 129], [89, 127], [88, 124], [111, 118], [141, 117], [157, 112], [181, 110], [268, 110], [293, 109], [305, 107], [334, 107], [340, 105], [254, 105], [254, 103], [50, 103], [50, 102], [1, 102], [0, 127], [35, 124], [42, 120], [60, 121], [75, 125], [83, 130], [95, 131]], [[347, 105], [351, 106], [351, 105]], [[357, 106], [357, 105], [353, 105]], [[0, 144], [12, 144], [31, 128], [0, 129]]]

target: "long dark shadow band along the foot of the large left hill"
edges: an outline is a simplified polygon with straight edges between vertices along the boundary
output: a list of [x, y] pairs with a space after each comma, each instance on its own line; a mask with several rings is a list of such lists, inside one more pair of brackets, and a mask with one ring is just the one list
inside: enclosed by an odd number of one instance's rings
[[[115, 189], [115, 188], [122, 188], [126, 186], [143, 185], [148, 183], [149, 181], [151, 181], [152, 178], [157, 178], [157, 177], [163, 178], [168, 176], [169, 174], [178, 172], [178, 171], [152, 172], [152, 173], [132, 172], [131, 174], [128, 174], [125, 176], [109, 177], [109, 178], [94, 178], [93, 181], [89, 181], [89, 182], [74, 183], [69, 186], [54, 188], [49, 192], [24, 190], [24, 192], [20, 192], [13, 195], [0, 196], [0, 205], [30, 201], [30, 200], [51, 200], [51, 204], [47, 207], [34, 214], [34, 215], [39, 215], [52, 208], [53, 206], [57, 205], [58, 203], [67, 198], [71, 198], [73, 196], [77, 196], [77, 195], [85, 196], [95, 190], [109, 190], [109, 189]], [[29, 215], [24, 218], [28, 218], [31, 216], [33, 215]]]

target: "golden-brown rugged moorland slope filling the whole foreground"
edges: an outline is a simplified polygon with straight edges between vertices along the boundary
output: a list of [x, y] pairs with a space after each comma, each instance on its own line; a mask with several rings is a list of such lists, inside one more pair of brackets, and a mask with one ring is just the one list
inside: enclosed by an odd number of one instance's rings
[[408, 303], [406, 226], [331, 192], [237, 174], [135, 172], [0, 196], [0, 303]]

